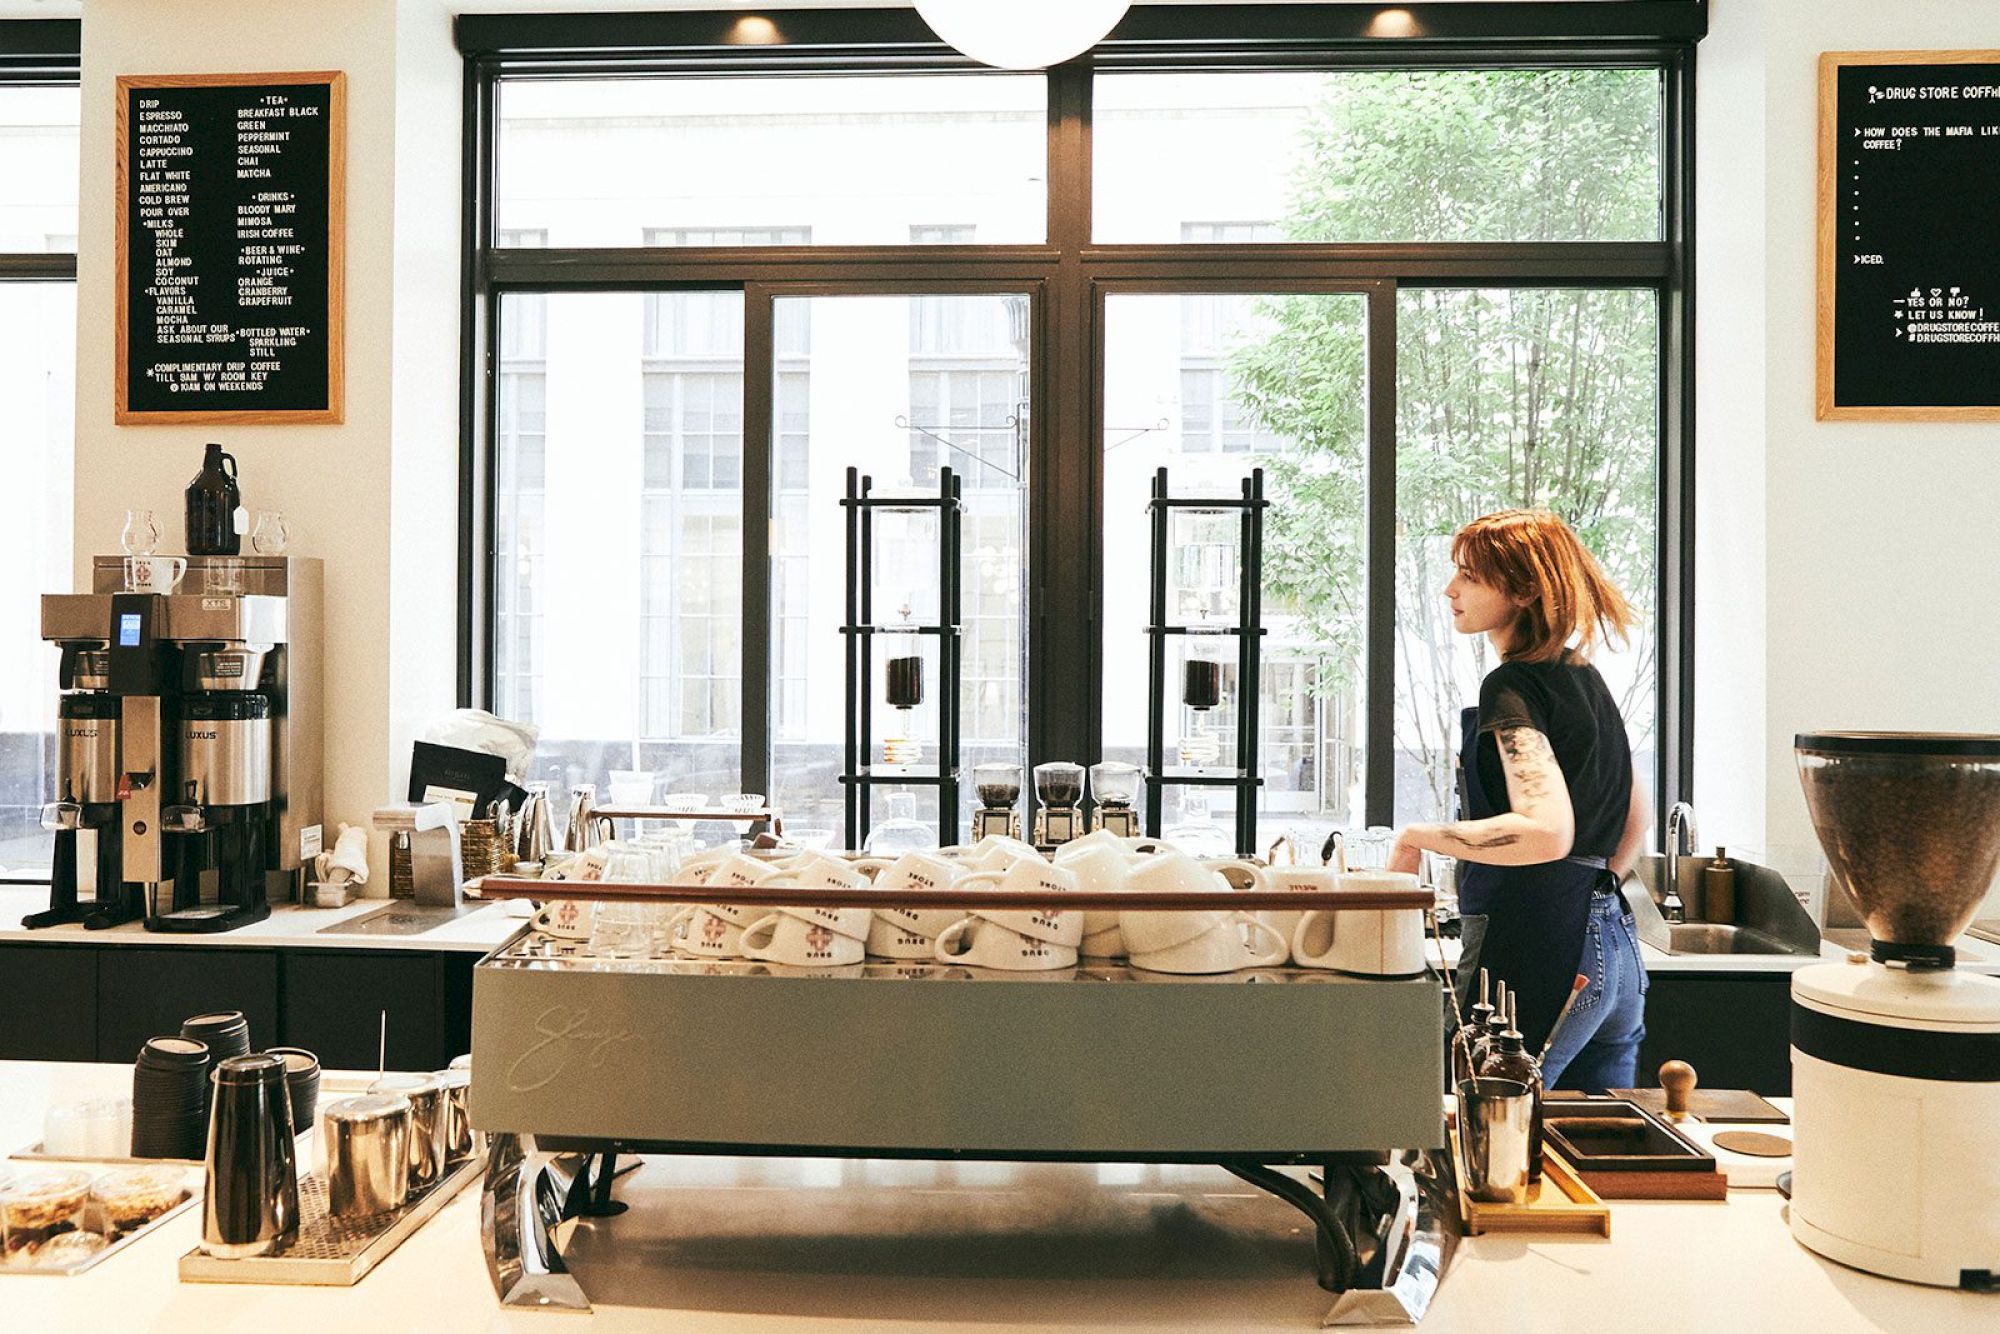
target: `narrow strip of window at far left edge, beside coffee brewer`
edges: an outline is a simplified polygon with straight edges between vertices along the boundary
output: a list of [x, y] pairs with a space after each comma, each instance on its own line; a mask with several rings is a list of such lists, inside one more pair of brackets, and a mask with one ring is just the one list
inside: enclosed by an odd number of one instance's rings
[[0, 526], [0, 876], [46, 874], [40, 808], [56, 796], [40, 594], [72, 580], [76, 138], [74, 84], [0, 82], [0, 486], [14, 498]]

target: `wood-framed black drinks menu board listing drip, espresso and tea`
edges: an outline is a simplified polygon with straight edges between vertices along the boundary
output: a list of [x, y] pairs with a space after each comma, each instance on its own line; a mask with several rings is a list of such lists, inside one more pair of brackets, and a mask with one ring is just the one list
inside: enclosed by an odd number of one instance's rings
[[338, 422], [344, 74], [118, 80], [118, 424]]

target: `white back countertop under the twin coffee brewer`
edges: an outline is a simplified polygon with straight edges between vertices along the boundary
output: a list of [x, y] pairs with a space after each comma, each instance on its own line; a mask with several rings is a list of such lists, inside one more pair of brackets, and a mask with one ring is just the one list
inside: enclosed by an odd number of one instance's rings
[[[20, 924], [24, 916], [48, 908], [48, 890], [40, 886], [10, 884], [0, 886], [0, 944], [134, 944], [154, 948], [220, 946], [246, 950], [270, 950], [274, 946], [282, 946], [288, 950], [448, 950], [484, 954], [512, 936], [522, 924], [520, 916], [508, 914], [506, 904], [494, 902], [482, 904], [476, 912], [468, 912], [416, 936], [376, 936], [366, 932], [320, 934], [326, 926], [352, 922], [354, 918], [366, 916], [376, 908], [386, 908], [392, 902], [406, 904], [408, 900], [356, 898], [346, 908], [300, 908], [298, 904], [272, 904], [270, 916], [262, 922], [212, 934], [150, 932], [138, 922], [126, 922], [124, 926], [110, 926], [98, 932], [84, 930], [74, 924], [24, 930]], [[468, 906], [474, 904], [474, 900], [466, 902]]]

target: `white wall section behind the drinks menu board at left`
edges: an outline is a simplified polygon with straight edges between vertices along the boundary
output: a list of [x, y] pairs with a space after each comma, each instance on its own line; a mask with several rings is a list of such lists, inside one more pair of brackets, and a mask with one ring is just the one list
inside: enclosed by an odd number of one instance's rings
[[[114, 112], [120, 74], [344, 70], [346, 420], [114, 426]], [[460, 62], [442, 0], [90, 0], [76, 320], [76, 578], [150, 506], [182, 546], [202, 442], [244, 504], [326, 562], [326, 822], [400, 796], [412, 732], [456, 694]], [[332, 834], [332, 828], [328, 828]], [[376, 840], [376, 892], [386, 844]]]

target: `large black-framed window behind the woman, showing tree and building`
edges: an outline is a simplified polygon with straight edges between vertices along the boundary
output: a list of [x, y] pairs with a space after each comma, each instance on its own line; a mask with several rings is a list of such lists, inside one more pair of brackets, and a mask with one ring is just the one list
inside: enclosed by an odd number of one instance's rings
[[[630, 50], [680, 46], [682, 20], [634, 22]], [[1260, 468], [1260, 844], [1452, 810], [1490, 664], [1440, 588], [1450, 534], [1502, 506], [1564, 514], [1632, 596], [1600, 666], [1682, 792], [1686, 40], [1456, 68], [1328, 40], [1312, 68], [1300, 30], [1270, 68], [1246, 34], [998, 74], [914, 18], [868, 30], [888, 46], [852, 68], [780, 40], [612, 78], [462, 24], [492, 40], [468, 48], [500, 348], [478, 686], [566, 778], [752, 786], [852, 840], [848, 468], [962, 480], [962, 766], [1144, 758], [1156, 470], [1228, 496]], [[934, 548], [878, 534], [876, 622], [934, 614]], [[1176, 614], [1230, 616], [1240, 556], [1234, 520], [1176, 514]], [[1168, 696], [1168, 764], [1232, 754], [1234, 710]], [[934, 700], [874, 714], [938, 740]], [[1236, 800], [1168, 786], [1164, 824], [1228, 828]]]

